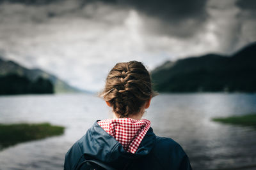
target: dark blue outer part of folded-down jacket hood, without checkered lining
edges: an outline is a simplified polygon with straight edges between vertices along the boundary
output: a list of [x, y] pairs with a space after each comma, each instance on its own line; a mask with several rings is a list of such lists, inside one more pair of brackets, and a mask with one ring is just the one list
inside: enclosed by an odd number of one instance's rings
[[85, 157], [92, 159], [99, 159], [109, 164], [116, 164], [117, 166], [124, 165], [125, 162], [132, 159], [138, 159], [150, 153], [156, 142], [156, 135], [150, 127], [136, 153], [128, 153], [124, 150], [123, 146], [116, 141], [108, 132], [104, 131], [97, 120], [93, 126], [88, 129], [86, 134], [81, 138], [78, 143], [81, 152]]

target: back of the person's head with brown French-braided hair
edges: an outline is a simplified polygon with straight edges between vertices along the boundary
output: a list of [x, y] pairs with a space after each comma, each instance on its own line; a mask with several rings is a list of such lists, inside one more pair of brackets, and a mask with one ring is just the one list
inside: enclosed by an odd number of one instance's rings
[[156, 96], [150, 74], [141, 62], [120, 62], [111, 69], [101, 94], [120, 118], [140, 113], [141, 107]]

